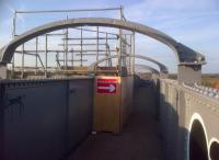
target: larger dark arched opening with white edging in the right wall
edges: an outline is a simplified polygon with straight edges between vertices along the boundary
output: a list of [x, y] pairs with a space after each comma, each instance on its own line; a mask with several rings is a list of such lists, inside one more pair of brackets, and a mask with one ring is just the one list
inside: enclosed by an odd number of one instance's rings
[[199, 121], [195, 119], [192, 125], [189, 138], [189, 160], [207, 160], [207, 140], [204, 128]]

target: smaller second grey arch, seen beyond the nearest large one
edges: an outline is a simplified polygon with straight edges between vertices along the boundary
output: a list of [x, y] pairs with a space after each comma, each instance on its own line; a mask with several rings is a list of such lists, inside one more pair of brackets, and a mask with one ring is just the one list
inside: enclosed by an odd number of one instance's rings
[[159, 66], [161, 72], [168, 73], [168, 68], [166, 68], [163, 64], [161, 64], [161, 62], [159, 62], [159, 61], [157, 61], [157, 60], [154, 60], [154, 59], [152, 59], [152, 58], [149, 58], [149, 57], [146, 57], [146, 56], [141, 56], [141, 55], [120, 55], [120, 56], [119, 56], [119, 55], [114, 55], [114, 56], [108, 56], [108, 57], [102, 58], [102, 59], [100, 59], [100, 60], [97, 60], [97, 61], [91, 64], [91, 65], [89, 66], [89, 71], [90, 71], [90, 72], [94, 72], [96, 66], [97, 66], [100, 62], [103, 62], [103, 61], [106, 61], [106, 60], [110, 60], [110, 59], [113, 59], [113, 58], [120, 58], [120, 57], [122, 57], [122, 58], [135, 57], [135, 58], [139, 58], [139, 59], [143, 59], [143, 60], [151, 61], [151, 62], [153, 62], [153, 64], [155, 64], [155, 65]]

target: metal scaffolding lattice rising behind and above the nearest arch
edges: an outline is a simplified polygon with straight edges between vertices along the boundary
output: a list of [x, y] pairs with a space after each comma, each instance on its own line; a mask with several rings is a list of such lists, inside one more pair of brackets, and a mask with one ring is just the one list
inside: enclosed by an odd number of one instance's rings
[[[71, 12], [105, 12], [118, 11], [119, 18], [126, 21], [123, 12], [123, 7], [119, 8], [104, 8], [104, 9], [77, 9], [77, 10], [42, 10], [42, 11], [15, 11], [13, 19], [12, 36], [19, 36], [18, 15], [19, 14], [48, 14], [48, 13], [71, 13]], [[66, 19], [69, 19], [68, 15]], [[72, 35], [72, 33], [79, 35]], [[92, 36], [88, 36], [91, 34]], [[58, 39], [58, 44], [54, 47], [50, 42]], [[34, 39], [33, 39], [34, 41]], [[33, 43], [33, 41], [30, 41]], [[43, 42], [43, 43], [42, 43]], [[42, 45], [43, 44], [43, 45]], [[122, 28], [118, 32], [102, 31], [100, 26], [92, 27], [73, 27], [64, 28], [60, 32], [46, 33], [35, 37], [32, 44], [35, 47], [30, 47], [28, 42], [18, 47], [14, 57], [11, 61], [11, 77], [14, 77], [16, 71], [21, 71], [21, 78], [24, 78], [25, 68], [32, 68], [37, 76], [38, 70], [45, 72], [47, 77], [48, 68], [56, 68], [56, 70], [68, 69], [69, 67], [80, 66], [84, 67], [91, 59], [95, 57], [99, 60], [103, 57], [122, 54], [135, 54], [135, 34], [134, 32], [125, 33]], [[21, 66], [18, 66], [16, 55], [21, 56]], [[26, 56], [35, 56], [31, 66], [27, 66]], [[51, 59], [54, 64], [51, 65]], [[108, 60], [105, 66], [127, 66], [128, 70], [134, 65], [134, 58], [119, 58], [117, 61]], [[30, 62], [28, 62], [30, 64]], [[119, 70], [122, 71], [122, 68]], [[134, 72], [134, 71], [132, 71]]]

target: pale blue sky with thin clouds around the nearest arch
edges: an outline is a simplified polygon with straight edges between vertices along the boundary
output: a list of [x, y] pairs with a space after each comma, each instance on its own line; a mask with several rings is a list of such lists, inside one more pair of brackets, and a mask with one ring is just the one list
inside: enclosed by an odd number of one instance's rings
[[[205, 73], [219, 73], [219, 1], [218, 0], [0, 0], [0, 47], [12, 38], [14, 10], [55, 10], [124, 7], [128, 21], [142, 23], [160, 30], [177, 42], [206, 56]], [[68, 16], [110, 16], [111, 13], [80, 13]], [[56, 15], [62, 19], [66, 15]], [[39, 19], [38, 19], [39, 18]], [[54, 15], [19, 15], [20, 32], [54, 20]], [[18, 28], [19, 31], [19, 28]], [[177, 61], [174, 53], [165, 45], [147, 36], [137, 34], [136, 53], [149, 56], [176, 72]], [[145, 61], [139, 60], [140, 64]], [[153, 67], [152, 64], [149, 64]], [[154, 66], [155, 67], [155, 66]]]

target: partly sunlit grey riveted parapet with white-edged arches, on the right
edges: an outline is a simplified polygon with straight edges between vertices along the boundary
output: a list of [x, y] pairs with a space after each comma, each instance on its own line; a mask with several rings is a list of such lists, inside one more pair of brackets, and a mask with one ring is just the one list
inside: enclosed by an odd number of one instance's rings
[[[194, 129], [204, 133], [209, 158], [211, 139], [219, 139], [219, 90], [197, 83], [178, 83], [175, 80], [160, 79], [160, 121], [166, 144], [168, 159], [188, 159], [192, 151], [191, 139], [201, 142], [200, 135], [192, 135]], [[194, 128], [195, 122], [203, 130]], [[176, 142], [177, 141], [177, 142]], [[204, 145], [205, 146], [205, 145]]]

